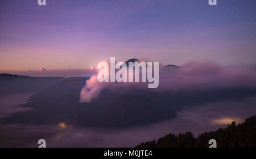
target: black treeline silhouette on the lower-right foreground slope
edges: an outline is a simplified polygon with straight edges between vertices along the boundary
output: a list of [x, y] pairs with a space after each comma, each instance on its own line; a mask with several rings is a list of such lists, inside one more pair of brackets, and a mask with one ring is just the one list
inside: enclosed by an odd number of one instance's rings
[[226, 128], [214, 132], [205, 132], [197, 137], [191, 132], [168, 134], [137, 145], [137, 148], [207, 148], [209, 140], [217, 141], [217, 148], [255, 148], [256, 147], [256, 116], [251, 116], [242, 124], [232, 122]]

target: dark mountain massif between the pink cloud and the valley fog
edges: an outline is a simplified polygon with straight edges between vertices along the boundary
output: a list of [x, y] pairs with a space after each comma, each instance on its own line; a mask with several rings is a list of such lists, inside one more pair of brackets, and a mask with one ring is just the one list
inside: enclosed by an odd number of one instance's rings
[[[136, 58], [131, 61], [137, 61]], [[80, 92], [87, 77], [27, 77], [1, 74], [2, 93], [38, 91], [27, 103], [28, 111], [11, 114], [3, 123], [59, 124], [79, 127], [131, 127], [146, 125], [176, 116], [184, 106], [243, 99], [256, 94], [255, 89], [214, 87], [209, 89], [150, 91], [104, 89], [97, 99], [80, 103]]]

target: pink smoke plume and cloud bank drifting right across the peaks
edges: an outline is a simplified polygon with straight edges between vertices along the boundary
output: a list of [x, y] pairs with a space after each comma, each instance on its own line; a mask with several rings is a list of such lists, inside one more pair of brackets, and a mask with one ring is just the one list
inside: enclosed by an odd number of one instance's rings
[[[98, 72], [98, 70], [97, 70]], [[222, 66], [214, 61], [192, 61], [180, 67], [159, 68], [159, 87], [148, 89], [147, 82], [98, 82], [97, 73], [86, 81], [80, 93], [80, 102], [91, 102], [103, 89], [126, 91], [176, 91], [210, 89], [215, 87], [256, 88], [256, 70], [241, 66]]]

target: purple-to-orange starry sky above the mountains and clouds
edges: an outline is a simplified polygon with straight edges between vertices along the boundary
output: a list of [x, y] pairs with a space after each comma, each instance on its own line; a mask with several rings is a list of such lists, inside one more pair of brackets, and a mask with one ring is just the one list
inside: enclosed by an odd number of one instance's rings
[[0, 71], [88, 69], [110, 57], [256, 61], [255, 0], [46, 1], [0, 1]]

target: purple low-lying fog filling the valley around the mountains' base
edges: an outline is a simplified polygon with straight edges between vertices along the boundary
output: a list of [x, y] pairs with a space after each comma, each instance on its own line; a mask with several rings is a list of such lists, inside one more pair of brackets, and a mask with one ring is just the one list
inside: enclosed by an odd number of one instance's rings
[[[16, 111], [33, 93], [0, 97], [0, 121]], [[226, 127], [232, 120], [243, 122], [256, 114], [256, 96], [240, 101], [227, 101], [183, 108], [176, 118], [144, 127], [77, 128], [58, 125], [0, 124], [0, 147], [38, 147], [45, 139], [47, 147], [135, 147], [142, 141], [154, 140], [168, 133], [191, 131], [195, 136], [205, 131]]]

